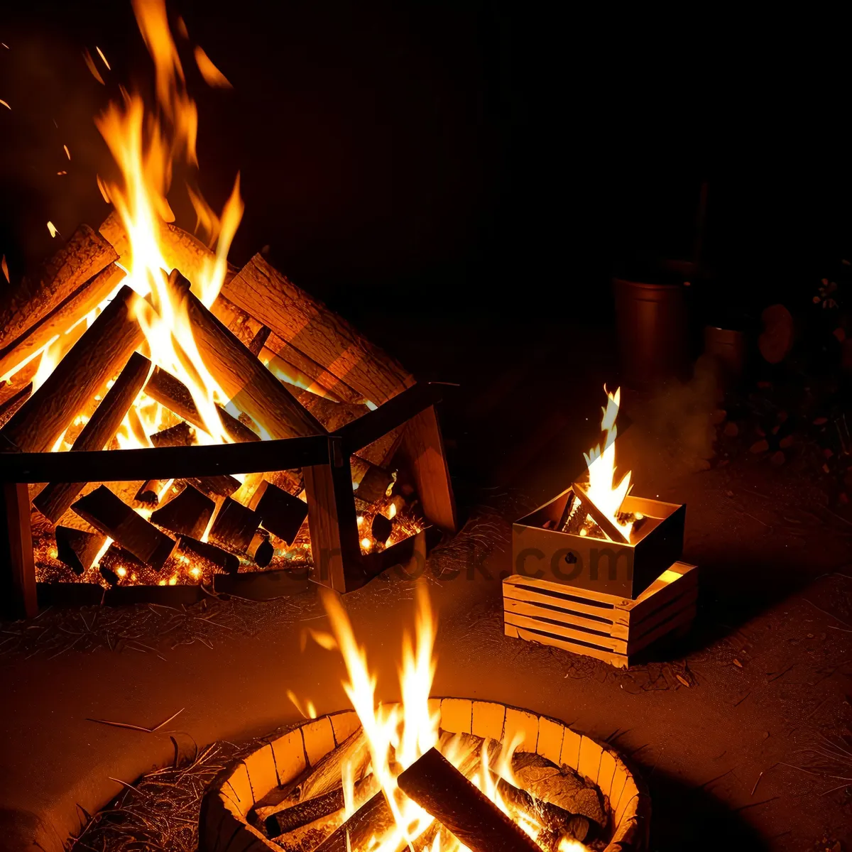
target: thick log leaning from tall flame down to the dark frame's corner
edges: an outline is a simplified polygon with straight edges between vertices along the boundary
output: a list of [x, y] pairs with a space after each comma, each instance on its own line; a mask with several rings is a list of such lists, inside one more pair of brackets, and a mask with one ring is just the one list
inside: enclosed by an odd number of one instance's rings
[[219, 386], [273, 438], [323, 435], [314, 417], [216, 319], [192, 293], [184, 291], [177, 276], [176, 297], [185, 300], [187, 314], [204, 364]]

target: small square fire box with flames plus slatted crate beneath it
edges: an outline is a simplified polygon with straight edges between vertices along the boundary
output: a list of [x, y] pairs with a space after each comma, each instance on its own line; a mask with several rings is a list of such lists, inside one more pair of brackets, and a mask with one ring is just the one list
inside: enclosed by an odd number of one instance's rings
[[697, 572], [680, 561], [686, 506], [633, 497], [629, 472], [616, 484], [619, 395], [607, 394], [588, 483], [515, 522], [504, 621], [507, 636], [626, 666], [692, 622]]

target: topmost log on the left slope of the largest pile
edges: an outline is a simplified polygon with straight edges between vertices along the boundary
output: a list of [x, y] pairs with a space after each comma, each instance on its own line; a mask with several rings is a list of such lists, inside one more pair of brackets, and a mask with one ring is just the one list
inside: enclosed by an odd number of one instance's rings
[[73, 296], [80, 285], [101, 272], [107, 263], [117, 259], [112, 246], [92, 228], [88, 225], [78, 227], [71, 239], [43, 263], [34, 279], [24, 279], [20, 287], [3, 300], [0, 350]]

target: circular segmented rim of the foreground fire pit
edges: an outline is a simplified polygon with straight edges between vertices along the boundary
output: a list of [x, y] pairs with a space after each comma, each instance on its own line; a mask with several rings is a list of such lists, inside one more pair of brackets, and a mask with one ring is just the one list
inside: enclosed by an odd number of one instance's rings
[[[518, 751], [533, 751], [557, 766], [567, 765], [606, 797], [611, 819], [605, 852], [648, 849], [651, 800], [642, 780], [617, 751], [556, 719], [492, 701], [434, 698], [429, 704], [434, 711], [440, 706], [440, 728], [449, 734], [504, 742], [522, 734]], [[246, 815], [268, 792], [296, 780], [359, 727], [354, 711], [309, 719], [226, 769], [204, 795], [199, 852], [281, 852], [278, 844], [248, 823]]]

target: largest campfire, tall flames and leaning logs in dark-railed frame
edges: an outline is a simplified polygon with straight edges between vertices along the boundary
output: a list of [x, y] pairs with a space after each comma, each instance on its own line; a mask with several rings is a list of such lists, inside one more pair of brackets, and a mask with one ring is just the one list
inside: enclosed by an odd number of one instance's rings
[[198, 166], [197, 111], [164, 3], [134, 8], [157, 102], [121, 89], [95, 119], [114, 210], [0, 304], [15, 594], [32, 614], [37, 584], [168, 590], [308, 567], [354, 588], [428, 527], [455, 527], [440, 388], [265, 256], [228, 263], [239, 176], [221, 212], [187, 186], [206, 243], [176, 227], [171, 176]]

